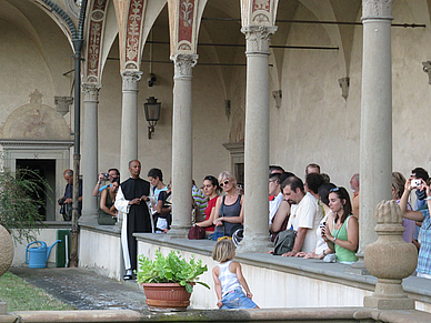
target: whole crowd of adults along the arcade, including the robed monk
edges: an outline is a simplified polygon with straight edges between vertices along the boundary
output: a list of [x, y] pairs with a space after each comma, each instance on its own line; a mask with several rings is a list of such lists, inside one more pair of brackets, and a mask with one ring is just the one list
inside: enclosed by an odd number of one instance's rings
[[[168, 232], [174, 208], [171, 203], [171, 185], [163, 182], [160, 169], [151, 169], [147, 174], [148, 181], [140, 179], [139, 161], [130, 161], [129, 170], [130, 179], [121, 184], [120, 172], [117, 169], [100, 173], [92, 192], [93, 196], [100, 198], [98, 214], [100, 225], [113, 225], [119, 214], [123, 214], [121, 240], [127, 269], [124, 279], [131, 279], [133, 270], [137, 269], [134, 256], [137, 246], [132, 234]], [[302, 181], [281, 166], [270, 166], [268, 239], [275, 242], [280, 232], [293, 230], [294, 243], [282, 256], [321, 259], [347, 264], [355, 262], [360, 221], [359, 174], [353, 174], [350, 180], [352, 196], [345, 188], [331, 183], [330, 176], [321, 173], [318, 164], [309, 164], [305, 168], [304, 179]], [[60, 200], [63, 204], [70, 204], [73, 184], [71, 170], [64, 171], [64, 180], [68, 184], [64, 196]], [[414, 208], [409, 203], [412, 190], [415, 190], [417, 195]], [[403, 239], [417, 245], [419, 250], [417, 271], [418, 275], [424, 277], [431, 277], [431, 263], [428, 261], [431, 259], [430, 191], [428, 172], [421, 168], [413, 169], [408, 180], [399, 172], [392, 173], [392, 198], [404, 214]], [[242, 229], [247, 216], [243, 212], [244, 192], [232, 173], [223, 171], [218, 178], [207, 175], [201, 188], [192, 181], [190, 193], [193, 201], [191, 225], [204, 231], [202, 238], [218, 241], [223, 236], [231, 238]], [[82, 189], [79, 202], [81, 209]]]

